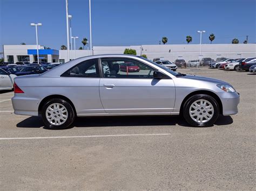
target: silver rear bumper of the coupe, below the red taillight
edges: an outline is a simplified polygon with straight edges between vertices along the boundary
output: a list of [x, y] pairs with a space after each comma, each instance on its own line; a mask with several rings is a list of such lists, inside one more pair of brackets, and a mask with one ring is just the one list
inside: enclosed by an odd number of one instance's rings
[[28, 98], [14, 96], [11, 98], [14, 113], [17, 115], [38, 116], [38, 106], [41, 100], [37, 98]]

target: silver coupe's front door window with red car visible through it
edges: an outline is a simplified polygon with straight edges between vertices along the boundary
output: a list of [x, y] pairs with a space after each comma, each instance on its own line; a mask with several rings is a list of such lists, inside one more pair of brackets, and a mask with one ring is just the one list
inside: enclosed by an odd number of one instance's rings
[[142, 62], [126, 58], [103, 58], [102, 71], [104, 77], [152, 79], [154, 68]]

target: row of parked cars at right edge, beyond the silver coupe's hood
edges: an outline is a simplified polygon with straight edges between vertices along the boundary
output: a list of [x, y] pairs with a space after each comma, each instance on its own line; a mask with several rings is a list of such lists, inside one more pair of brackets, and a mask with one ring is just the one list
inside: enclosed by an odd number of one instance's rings
[[212, 62], [209, 68], [229, 69], [229, 70], [246, 70], [255, 73], [256, 57], [251, 58], [228, 58], [221, 62]]

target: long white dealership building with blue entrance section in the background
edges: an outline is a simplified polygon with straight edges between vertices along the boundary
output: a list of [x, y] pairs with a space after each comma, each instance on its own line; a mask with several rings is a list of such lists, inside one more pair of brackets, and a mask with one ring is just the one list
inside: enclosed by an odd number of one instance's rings
[[[201, 53], [199, 44], [183, 45], [140, 45], [140, 46], [93, 46], [93, 55], [123, 54], [125, 48], [136, 49], [137, 55], [145, 54], [150, 60], [163, 59], [174, 61], [176, 59], [197, 60], [201, 58], [217, 59], [248, 58], [256, 56], [256, 44], [202, 44]], [[67, 62], [68, 51], [57, 49], [44, 49], [38, 45], [39, 61]], [[3, 45], [5, 62], [37, 61], [36, 45]], [[89, 50], [70, 51], [70, 60], [90, 55]]]

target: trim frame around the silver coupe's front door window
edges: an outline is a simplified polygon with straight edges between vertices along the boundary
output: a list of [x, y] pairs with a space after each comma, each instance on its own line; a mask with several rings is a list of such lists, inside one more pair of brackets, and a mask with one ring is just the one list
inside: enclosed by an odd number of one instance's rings
[[102, 69], [102, 59], [129, 59], [129, 60], [134, 60], [134, 61], [137, 61], [137, 62], [139, 62], [139, 63], [142, 63], [142, 64], [144, 64], [144, 65], [146, 65], [146, 66], [148, 66], [148, 67], [150, 67], [150, 68], [153, 68], [154, 69], [154, 71], [159, 71], [159, 72], [161, 72], [162, 74], [164, 74], [165, 76], [166, 76], [166, 79], [172, 79], [170, 76], [168, 76], [168, 75], [166, 75], [165, 73], [163, 73], [162, 71], [160, 71], [159, 69], [157, 69], [157, 68], [154, 68], [154, 67], [152, 67], [152, 66], [150, 66], [150, 65], [148, 65], [147, 63], [145, 63], [145, 62], [142, 62], [142, 61], [140, 61], [140, 60], [136, 60], [136, 59], [133, 59], [133, 58], [124, 58], [124, 57], [100, 57], [99, 58], [99, 68], [100, 68], [100, 74], [102, 75], [102, 76], [100, 76], [101, 78], [104, 78], [104, 79], [140, 79], [140, 80], [153, 80], [154, 78], [152, 77], [152, 78], [140, 78], [140, 77], [134, 77], [134, 78], [116, 78], [116, 77], [104, 77], [104, 74], [103, 74], [103, 69]]

